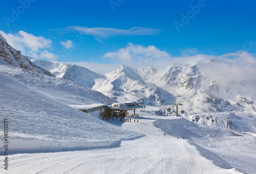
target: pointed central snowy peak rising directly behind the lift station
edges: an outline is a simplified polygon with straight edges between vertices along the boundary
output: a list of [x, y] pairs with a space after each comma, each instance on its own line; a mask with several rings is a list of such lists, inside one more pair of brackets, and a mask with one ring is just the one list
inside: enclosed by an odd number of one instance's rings
[[94, 90], [119, 101], [137, 100], [161, 105], [173, 99], [171, 94], [159, 89], [154, 83], [145, 82], [136, 71], [124, 65], [95, 81]]

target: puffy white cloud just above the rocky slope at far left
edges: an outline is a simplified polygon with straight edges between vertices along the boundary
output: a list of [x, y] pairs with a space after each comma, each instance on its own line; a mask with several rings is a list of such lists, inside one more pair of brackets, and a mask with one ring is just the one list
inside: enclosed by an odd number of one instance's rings
[[25, 31], [5, 33], [0, 30], [0, 34], [6, 38], [10, 46], [21, 51], [24, 55], [53, 60], [58, 58], [57, 55], [49, 52], [52, 49], [52, 40], [43, 36], [34, 36]]

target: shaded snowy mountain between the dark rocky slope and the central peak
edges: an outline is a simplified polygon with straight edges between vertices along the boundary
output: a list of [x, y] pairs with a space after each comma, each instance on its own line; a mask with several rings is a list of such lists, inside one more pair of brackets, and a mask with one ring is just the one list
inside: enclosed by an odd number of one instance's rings
[[50, 71], [57, 78], [75, 81], [87, 88], [92, 88], [92, 86], [95, 84], [95, 79], [103, 78], [102, 75], [99, 75], [93, 71], [88, 70], [87, 68], [80, 67], [75, 64], [55, 63], [33, 58], [30, 59], [38, 67]]

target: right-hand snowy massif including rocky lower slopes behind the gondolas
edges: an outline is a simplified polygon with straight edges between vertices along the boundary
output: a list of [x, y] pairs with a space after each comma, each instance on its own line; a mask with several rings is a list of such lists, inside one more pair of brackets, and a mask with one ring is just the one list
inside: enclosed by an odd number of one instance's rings
[[[207, 74], [211, 66], [219, 66], [218, 62], [207, 61], [205, 63], [207, 65], [203, 64], [203, 66], [209, 66], [208, 69], [202, 69], [202, 64], [199, 63], [194, 65], [172, 64], [163, 70], [154, 71], [154, 74], [144, 71], [152, 72], [151, 67], [136, 71], [145, 82], [156, 84], [158, 88], [173, 94], [176, 101], [183, 104], [179, 106], [180, 116], [203, 125], [223, 128], [226, 127], [226, 120], [231, 120], [230, 124], [233, 129], [255, 132], [256, 81], [229, 80], [223, 82], [221, 78], [212, 78]], [[224, 75], [229, 74], [223, 74], [223, 78], [228, 79]], [[185, 111], [184, 114], [180, 113], [181, 107]], [[176, 115], [176, 106], [171, 106], [171, 108], [171, 115]], [[167, 109], [163, 107], [152, 113], [169, 115]], [[249, 121], [245, 123], [241, 122], [241, 119]]]

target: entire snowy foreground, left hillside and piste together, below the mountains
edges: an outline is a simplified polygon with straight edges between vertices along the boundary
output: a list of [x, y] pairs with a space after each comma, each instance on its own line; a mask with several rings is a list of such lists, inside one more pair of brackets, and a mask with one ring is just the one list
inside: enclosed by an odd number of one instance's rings
[[5, 65], [0, 80], [0, 119], [10, 121], [9, 166], [0, 173], [256, 172], [253, 121], [236, 128], [247, 117], [225, 129], [188, 116], [145, 114], [160, 108], [151, 106], [137, 112], [138, 123], [102, 121], [68, 104], [114, 100], [76, 82]]

